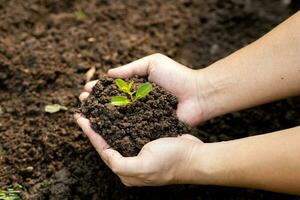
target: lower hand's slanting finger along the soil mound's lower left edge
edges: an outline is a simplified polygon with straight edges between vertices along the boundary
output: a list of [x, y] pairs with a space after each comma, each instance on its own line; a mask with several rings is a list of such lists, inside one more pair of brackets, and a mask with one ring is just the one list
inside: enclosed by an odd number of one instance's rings
[[83, 132], [88, 136], [89, 140], [91, 141], [92, 145], [95, 147], [96, 151], [101, 154], [105, 149], [109, 148], [109, 145], [106, 141], [96, 133], [90, 126], [90, 121], [84, 118], [82, 115], [76, 113], [74, 115], [76, 122], [81, 127]]

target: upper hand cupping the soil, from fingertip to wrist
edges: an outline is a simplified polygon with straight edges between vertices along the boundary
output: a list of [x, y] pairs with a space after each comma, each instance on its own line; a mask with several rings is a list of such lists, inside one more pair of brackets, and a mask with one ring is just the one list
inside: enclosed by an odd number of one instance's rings
[[196, 70], [187, 68], [167, 56], [153, 54], [108, 71], [112, 78], [134, 75], [148, 79], [178, 98], [177, 116], [189, 125], [197, 125], [208, 118], [204, 92], [206, 80]]

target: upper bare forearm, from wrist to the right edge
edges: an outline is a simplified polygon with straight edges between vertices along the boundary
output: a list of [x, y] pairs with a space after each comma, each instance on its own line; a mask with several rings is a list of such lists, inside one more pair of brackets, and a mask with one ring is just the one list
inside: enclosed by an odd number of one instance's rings
[[212, 105], [207, 118], [299, 94], [299, 52], [300, 12], [256, 42], [199, 70], [210, 84], [204, 95]]

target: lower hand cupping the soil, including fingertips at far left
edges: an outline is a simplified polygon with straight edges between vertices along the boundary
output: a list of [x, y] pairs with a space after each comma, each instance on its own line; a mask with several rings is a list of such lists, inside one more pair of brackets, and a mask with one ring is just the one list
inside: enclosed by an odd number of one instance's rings
[[[80, 95], [84, 100], [96, 81], [85, 86], [86, 92]], [[88, 119], [75, 115], [78, 125], [107, 166], [120, 177], [126, 186], [158, 186], [166, 184], [190, 183], [193, 179], [195, 152], [203, 142], [192, 135], [168, 137], [147, 143], [135, 157], [123, 157], [90, 126]], [[196, 157], [200, 157], [197, 155]]]

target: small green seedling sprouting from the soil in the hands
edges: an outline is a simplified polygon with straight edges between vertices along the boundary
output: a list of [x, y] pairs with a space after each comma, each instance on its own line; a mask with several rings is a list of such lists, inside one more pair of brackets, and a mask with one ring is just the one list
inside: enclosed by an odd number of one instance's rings
[[111, 104], [114, 106], [125, 106], [127, 104], [134, 103], [139, 99], [147, 96], [153, 89], [151, 83], [147, 82], [139, 86], [136, 91], [131, 91], [133, 83], [133, 81], [131, 81], [130, 83], [126, 83], [122, 79], [116, 79], [115, 84], [122, 92], [125, 92], [129, 96], [129, 98], [127, 98], [126, 96], [113, 96], [111, 98]]

